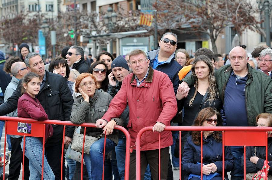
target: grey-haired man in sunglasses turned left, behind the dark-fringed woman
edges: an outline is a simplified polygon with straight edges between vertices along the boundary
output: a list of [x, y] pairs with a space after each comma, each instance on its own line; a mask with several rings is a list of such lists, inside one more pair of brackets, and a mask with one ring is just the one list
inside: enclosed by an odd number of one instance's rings
[[71, 69], [77, 70], [80, 74], [88, 72], [89, 66], [84, 60], [84, 51], [81, 47], [71, 46], [65, 57]]

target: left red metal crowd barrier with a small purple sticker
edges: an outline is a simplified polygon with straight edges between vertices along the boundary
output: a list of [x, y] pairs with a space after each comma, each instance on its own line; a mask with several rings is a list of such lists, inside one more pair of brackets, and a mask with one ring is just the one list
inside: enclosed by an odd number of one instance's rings
[[[78, 124], [73, 124], [69, 121], [58, 121], [58, 120], [45, 120], [45, 121], [36, 121], [30, 118], [18, 118], [18, 117], [8, 117], [8, 116], [0, 116], [0, 120], [5, 121], [5, 144], [4, 144], [4, 154], [6, 153], [6, 135], [22, 135], [22, 136], [33, 136], [33, 137], [41, 137], [43, 138], [43, 154], [42, 154], [42, 174], [41, 179], [43, 179], [43, 166], [44, 166], [44, 144], [45, 144], [45, 124], [58, 124], [63, 125], [63, 139], [62, 139], [62, 154], [61, 154], [61, 180], [63, 179], [62, 174], [62, 163], [63, 163], [63, 150], [64, 150], [64, 135], [65, 135], [65, 127], [66, 126], [79, 126]], [[26, 128], [19, 128], [21, 126], [25, 126], [26, 124], [23, 123], [30, 123], [30, 127]], [[86, 135], [86, 127], [96, 128], [94, 123], [83, 123], [80, 124], [81, 127], [84, 127], [84, 138], [83, 138], [83, 148], [85, 143], [85, 135]], [[122, 131], [126, 136], [126, 155], [125, 155], [125, 180], [128, 180], [129, 174], [129, 159], [130, 159], [130, 135], [128, 131], [122, 126], [115, 126], [114, 129]], [[18, 132], [18, 131], [21, 132]], [[103, 153], [103, 162], [105, 158], [105, 144], [106, 143], [106, 136], [104, 141], [104, 153]], [[25, 147], [25, 138], [24, 138], [24, 145]], [[3, 167], [3, 172], [5, 172], [5, 166]], [[24, 152], [23, 152], [23, 175], [22, 179], [24, 180]], [[5, 179], [5, 173], [3, 173], [3, 179]], [[64, 176], [65, 179], [65, 176]], [[104, 179], [104, 166], [103, 166], [103, 174], [102, 179]], [[83, 150], [82, 150], [82, 158], [81, 158], [81, 180], [83, 180]]]

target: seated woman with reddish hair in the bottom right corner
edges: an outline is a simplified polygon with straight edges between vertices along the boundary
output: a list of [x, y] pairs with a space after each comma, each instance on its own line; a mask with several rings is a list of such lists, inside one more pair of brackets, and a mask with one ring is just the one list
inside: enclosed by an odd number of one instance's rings
[[[272, 114], [261, 113], [256, 117], [257, 126], [259, 127], [271, 127], [272, 126]], [[272, 167], [272, 132], [268, 132], [267, 135], [267, 160], [270, 169]], [[242, 163], [244, 163], [244, 155], [242, 156]], [[254, 174], [262, 169], [265, 161], [265, 146], [247, 146], [246, 147], [246, 179], [252, 179]], [[272, 179], [272, 171], [268, 171], [267, 179]]]

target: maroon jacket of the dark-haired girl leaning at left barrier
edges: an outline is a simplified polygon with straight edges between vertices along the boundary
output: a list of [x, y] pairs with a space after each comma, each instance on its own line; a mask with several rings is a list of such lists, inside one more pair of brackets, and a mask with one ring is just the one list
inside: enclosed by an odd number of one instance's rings
[[[44, 108], [37, 98], [32, 98], [28, 93], [24, 93], [18, 99], [18, 117], [32, 118], [37, 121], [48, 119]], [[53, 135], [51, 124], [45, 126], [45, 140], [47, 141]]]

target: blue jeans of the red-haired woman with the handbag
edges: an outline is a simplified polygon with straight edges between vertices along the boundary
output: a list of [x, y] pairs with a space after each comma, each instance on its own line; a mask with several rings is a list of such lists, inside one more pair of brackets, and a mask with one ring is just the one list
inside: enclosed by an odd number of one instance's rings
[[[89, 180], [102, 179], [104, 139], [105, 138], [100, 138], [99, 140], [94, 142], [90, 148], [90, 155], [84, 154], [83, 156], [86, 169], [89, 175]], [[111, 152], [115, 148], [115, 146], [116, 146], [115, 142], [107, 138], [105, 154]], [[109, 177], [108, 174], [110, 173], [110, 175], [112, 175], [112, 172], [105, 171], [105, 169], [111, 168], [106, 167], [106, 165], [108, 164], [106, 163], [106, 158], [107, 156], [105, 156], [104, 176]]]

